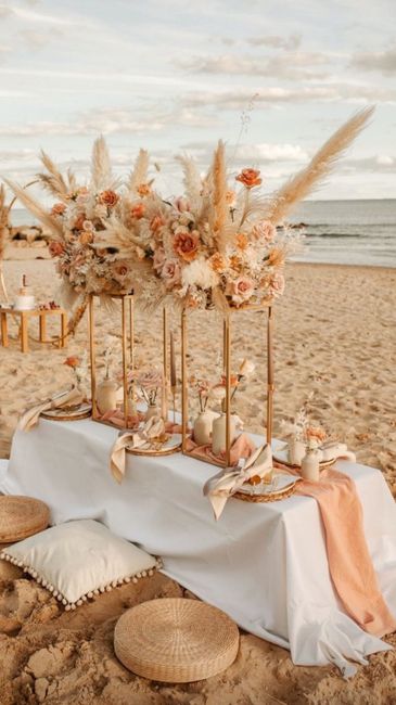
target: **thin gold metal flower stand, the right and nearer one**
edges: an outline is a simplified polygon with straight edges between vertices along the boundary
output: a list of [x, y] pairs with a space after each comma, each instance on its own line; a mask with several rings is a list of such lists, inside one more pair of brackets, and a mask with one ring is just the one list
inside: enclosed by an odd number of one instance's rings
[[205, 462], [212, 463], [213, 465], [218, 465], [219, 467], [229, 467], [231, 462], [231, 319], [232, 316], [237, 315], [238, 311], [246, 310], [256, 310], [265, 311], [267, 310], [267, 331], [266, 331], [266, 341], [267, 341], [267, 423], [266, 423], [266, 440], [268, 444], [271, 444], [272, 440], [272, 424], [273, 424], [273, 393], [274, 393], [274, 383], [273, 383], [273, 310], [271, 304], [267, 306], [257, 306], [257, 307], [245, 307], [241, 309], [235, 309], [234, 311], [230, 309], [223, 316], [223, 329], [222, 329], [222, 342], [223, 342], [223, 372], [226, 376], [226, 456], [222, 461], [220, 458], [215, 460], [214, 458], [206, 457], [205, 459], [199, 458], [194, 451], [187, 449], [187, 441], [189, 438], [188, 433], [188, 371], [187, 371], [187, 350], [188, 350], [188, 334], [187, 334], [187, 311], [182, 310], [181, 313], [181, 426], [182, 426], [182, 445], [181, 449], [184, 456], [190, 456], [196, 460], [205, 460]]

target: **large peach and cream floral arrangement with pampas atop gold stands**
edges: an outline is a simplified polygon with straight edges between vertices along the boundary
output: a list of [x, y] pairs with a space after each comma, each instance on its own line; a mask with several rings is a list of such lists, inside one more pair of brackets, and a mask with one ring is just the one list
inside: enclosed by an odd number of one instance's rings
[[[310, 163], [265, 197], [258, 169], [232, 176], [220, 141], [202, 178], [179, 157], [184, 194], [165, 198], [149, 178], [140, 150], [129, 178], [114, 180], [103, 138], [95, 141], [91, 179], [77, 184], [42, 154], [42, 187], [56, 196], [51, 211], [8, 182], [21, 202], [52, 231], [51, 254], [63, 279], [63, 303], [75, 309], [75, 326], [91, 293], [135, 294], [144, 307], [171, 299], [188, 308], [263, 307], [284, 291], [284, 265], [299, 244], [284, 221], [307, 197], [367, 124], [360, 111], [314, 155]], [[282, 227], [281, 227], [282, 226]], [[66, 295], [66, 296], [65, 296]], [[65, 303], [64, 303], [65, 305]]]

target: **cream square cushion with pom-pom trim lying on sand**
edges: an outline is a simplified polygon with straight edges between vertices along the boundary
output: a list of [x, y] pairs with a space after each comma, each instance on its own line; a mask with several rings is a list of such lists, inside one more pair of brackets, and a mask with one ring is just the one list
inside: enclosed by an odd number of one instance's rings
[[0, 557], [74, 610], [87, 598], [152, 575], [159, 562], [93, 520], [66, 522], [7, 547]]

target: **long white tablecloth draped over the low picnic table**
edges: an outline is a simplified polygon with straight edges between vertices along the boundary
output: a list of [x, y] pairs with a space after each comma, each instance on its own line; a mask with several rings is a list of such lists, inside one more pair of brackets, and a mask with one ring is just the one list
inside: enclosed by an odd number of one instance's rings
[[[360, 629], [337, 600], [329, 575], [317, 502], [227, 503], [218, 523], [202, 488], [216, 467], [181, 453], [127, 457], [119, 486], [108, 467], [116, 431], [90, 420], [40, 420], [16, 432], [5, 493], [46, 501], [54, 523], [95, 518], [164, 559], [164, 572], [227, 612], [244, 629], [290, 649], [295, 664], [336, 664], [388, 649]], [[396, 509], [380, 471], [337, 463], [363, 505], [366, 536], [387, 604], [396, 613]]]

